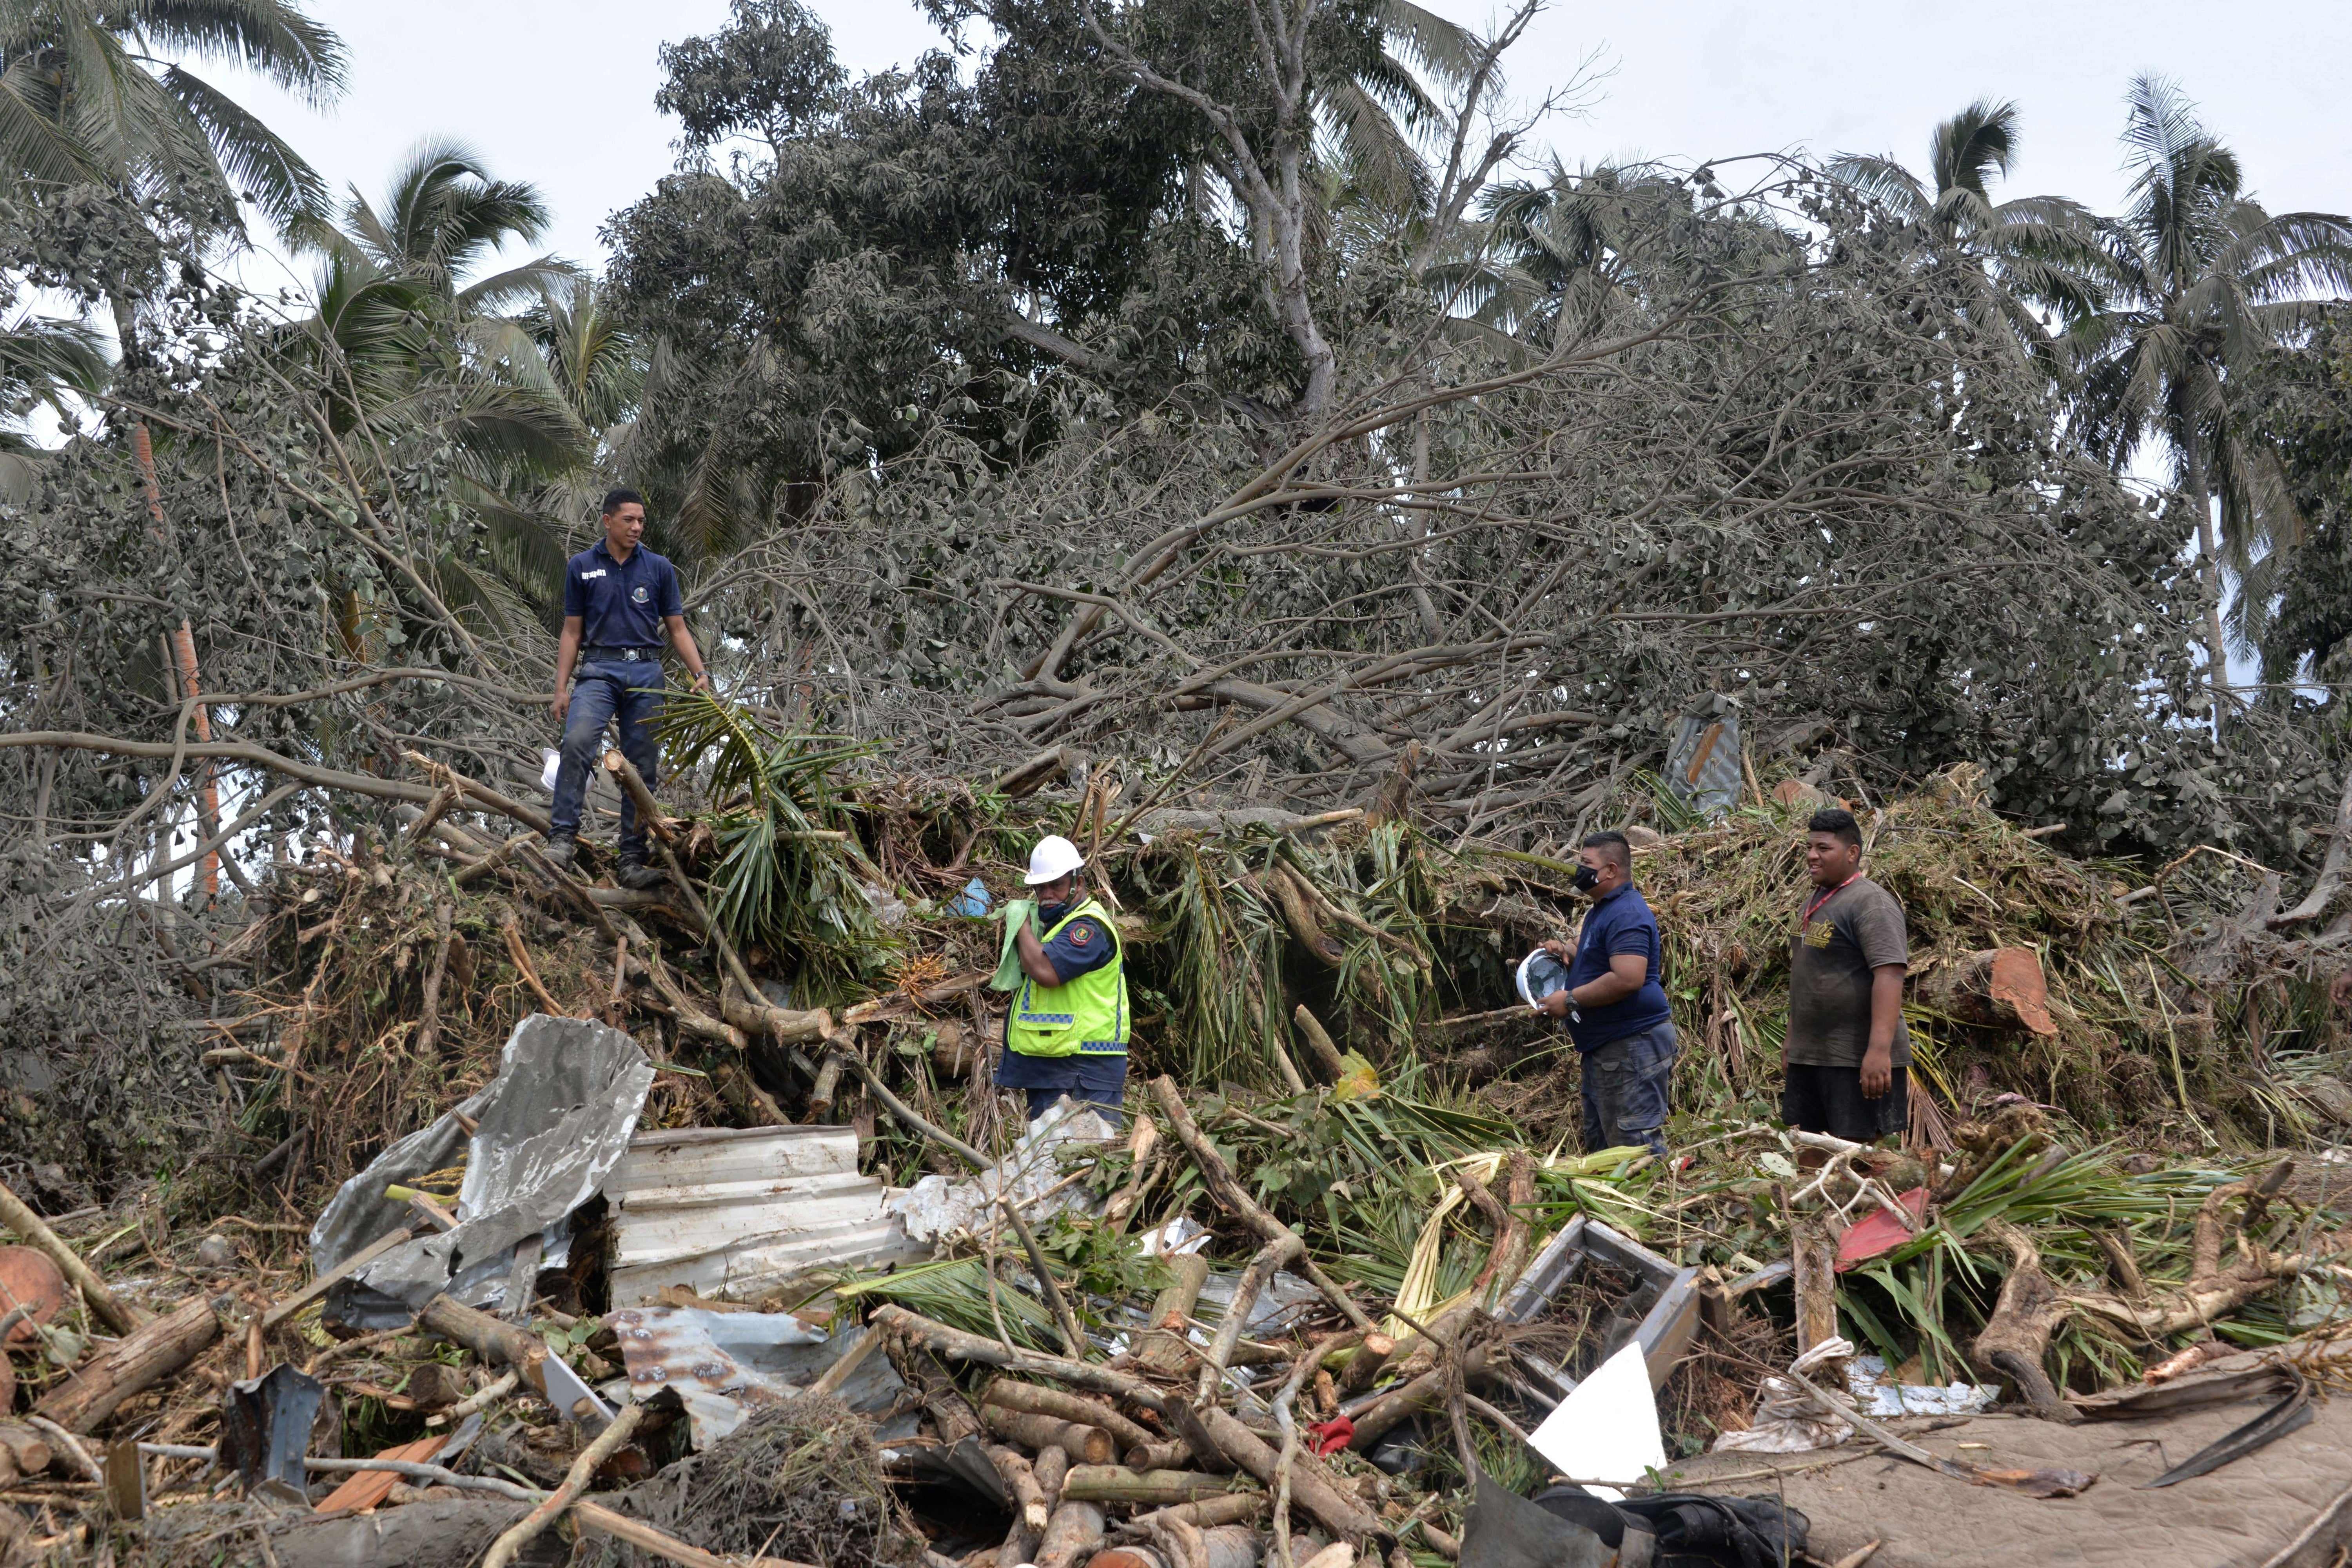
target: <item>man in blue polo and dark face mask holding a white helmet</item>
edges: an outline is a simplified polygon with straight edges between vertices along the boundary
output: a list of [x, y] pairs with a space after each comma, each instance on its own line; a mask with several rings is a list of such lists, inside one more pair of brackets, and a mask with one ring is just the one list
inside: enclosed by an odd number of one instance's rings
[[1658, 919], [1632, 886], [1632, 844], [1595, 832], [1576, 851], [1576, 889], [1592, 912], [1576, 936], [1543, 950], [1569, 966], [1569, 987], [1543, 1011], [1569, 1020], [1583, 1056], [1585, 1152], [1646, 1147], [1665, 1159], [1665, 1088], [1675, 1077], [1675, 1018], [1665, 1004]]

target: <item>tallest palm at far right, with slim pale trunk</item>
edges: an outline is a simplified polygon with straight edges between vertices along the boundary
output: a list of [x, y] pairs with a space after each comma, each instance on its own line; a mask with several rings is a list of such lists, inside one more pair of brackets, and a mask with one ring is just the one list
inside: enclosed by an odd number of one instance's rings
[[2263, 353], [2305, 339], [2328, 301], [2352, 294], [2352, 221], [2263, 212], [2244, 195], [2237, 155], [2173, 82], [2136, 78], [2129, 106], [2124, 146], [2138, 179], [2124, 216], [2103, 223], [2107, 306], [2072, 331], [2089, 367], [2077, 428], [2112, 468], [2143, 440], [2171, 458], [2197, 512], [2218, 722], [2230, 696], [2223, 571], [2244, 571], [2258, 545], [2296, 531], [2277, 458], [2244, 437], [2232, 393]]

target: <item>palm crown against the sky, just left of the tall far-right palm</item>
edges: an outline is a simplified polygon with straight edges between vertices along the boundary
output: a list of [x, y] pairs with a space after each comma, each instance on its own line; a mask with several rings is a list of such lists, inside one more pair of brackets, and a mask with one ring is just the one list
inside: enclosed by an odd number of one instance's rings
[[2096, 310], [2098, 223], [2060, 195], [1994, 202], [1992, 181], [2016, 155], [2018, 106], [1978, 99], [1936, 127], [1926, 179], [1860, 153], [1835, 158], [1828, 174], [1882, 205], [1931, 266], [1957, 261], [1971, 315], [2006, 322], [2020, 348], [2063, 369], [2042, 313], [2077, 322]]

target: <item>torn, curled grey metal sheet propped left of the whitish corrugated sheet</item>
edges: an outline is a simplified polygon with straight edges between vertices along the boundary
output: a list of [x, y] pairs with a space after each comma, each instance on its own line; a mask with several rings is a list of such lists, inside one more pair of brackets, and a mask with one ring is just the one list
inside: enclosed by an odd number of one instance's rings
[[621, 1030], [546, 1013], [517, 1023], [496, 1079], [379, 1154], [310, 1227], [313, 1267], [327, 1272], [407, 1220], [388, 1185], [466, 1164], [456, 1229], [395, 1246], [334, 1286], [327, 1316], [369, 1331], [405, 1324], [442, 1291], [468, 1307], [501, 1302], [524, 1237], [541, 1237], [541, 1267], [560, 1267], [567, 1220], [628, 1150], [652, 1084], [654, 1065]]

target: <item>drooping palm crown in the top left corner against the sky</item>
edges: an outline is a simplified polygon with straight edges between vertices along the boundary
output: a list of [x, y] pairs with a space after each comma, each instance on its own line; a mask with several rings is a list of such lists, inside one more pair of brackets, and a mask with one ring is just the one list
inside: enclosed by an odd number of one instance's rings
[[[315, 214], [315, 169], [183, 56], [235, 61], [310, 103], [343, 89], [343, 42], [285, 0], [0, 0], [0, 190], [99, 183], [162, 197], [198, 244]], [[136, 301], [118, 280], [118, 336]]]

